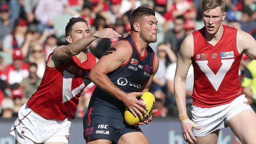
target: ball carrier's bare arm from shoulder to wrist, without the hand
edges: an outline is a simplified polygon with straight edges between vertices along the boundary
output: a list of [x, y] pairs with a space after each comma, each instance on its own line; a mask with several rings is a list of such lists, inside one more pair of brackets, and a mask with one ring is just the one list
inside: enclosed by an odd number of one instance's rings
[[126, 43], [127, 42], [119, 41], [113, 44], [100, 58], [89, 74], [89, 78], [95, 85], [119, 100], [122, 99], [124, 92], [111, 82], [107, 74], [119, 68], [119, 66], [130, 58], [132, 49], [127, 45], [128, 43]]

